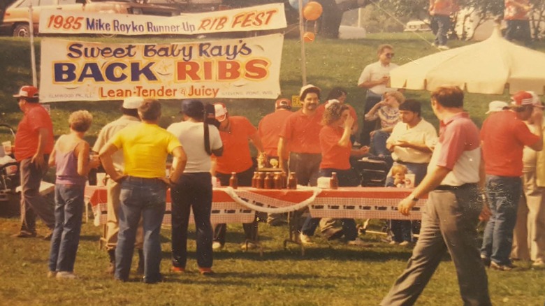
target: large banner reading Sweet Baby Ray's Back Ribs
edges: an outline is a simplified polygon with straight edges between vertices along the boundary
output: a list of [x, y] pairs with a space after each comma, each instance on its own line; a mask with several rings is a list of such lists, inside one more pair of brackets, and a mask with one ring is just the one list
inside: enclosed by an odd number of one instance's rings
[[283, 43], [282, 34], [171, 44], [43, 38], [40, 101], [276, 99]]

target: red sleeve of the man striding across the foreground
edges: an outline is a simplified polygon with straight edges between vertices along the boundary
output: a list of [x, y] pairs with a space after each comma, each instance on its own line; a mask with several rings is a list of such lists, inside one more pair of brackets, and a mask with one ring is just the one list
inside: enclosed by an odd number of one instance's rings
[[458, 158], [465, 151], [466, 135], [462, 124], [449, 124], [439, 137], [441, 151], [437, 166], [452, 170]]

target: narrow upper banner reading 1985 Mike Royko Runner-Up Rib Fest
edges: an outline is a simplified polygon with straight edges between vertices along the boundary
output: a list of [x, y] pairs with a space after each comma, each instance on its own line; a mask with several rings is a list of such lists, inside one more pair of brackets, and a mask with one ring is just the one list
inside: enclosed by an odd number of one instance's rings
[[205, 34], [231, 31], [256, 31], [286, 27], [284, 3], [186, 13], [163, 17], [90, 13], [85, 10], [42, 10], [39, 32], [43, 34]]

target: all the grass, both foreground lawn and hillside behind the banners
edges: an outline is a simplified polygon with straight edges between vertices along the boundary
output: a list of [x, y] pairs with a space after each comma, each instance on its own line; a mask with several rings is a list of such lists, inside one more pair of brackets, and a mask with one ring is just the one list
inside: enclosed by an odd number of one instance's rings
[[[428, 40], [430, 40], [430, 37]], [[79, 38], [78, 38], [79, 39]], [[81, 38], [97, 41], [98, 38]], [[173, 38], [140, 38], [141, 41], [170, 42]], [[177, 40], [177, 38], [175, 38]], [[134, 38], [101, 39], [125, 42]], [[180, 41], [182, 41], [180, 39]], [[284, 96], [298, 94], [300, 78], [300, 50], [296, 40], [286, 40], [282, 54], [281, 88]], [[324, 97], [334, 86], [345, 87], [348, 103], [363, 110], [365, 91], [356, 87], [363, 67], [376, 61], [376, 49], [381, 43], [395, 47], [395, 60], [405, 64], [411, 59], [436, 52], [429, 43], [412, 34], [380, 34], [356, 41], [334, 41], [318, 38], [306, 45], [307, 80], [324, 90]], [[31, 82], [28, 42], [16, 38], [0, 38], [0, 123], [17, 126], [22, 117], [12, 95], [21, 85]], [[451, 46], [466, 42], [451, 42]], [[40, 39], [36, 40], [39, 59]], [[544, 43], [536, 43], [545, 50]], [[39, 66], [39, 64], [38, 64]], [[406, 92], [423, 102], [423, 117], [437, 126], [429, 106], [428, 92]], [[508, 96], [467, 94], [465, 107], [472, 118], [481, 124], [488, 102], [507, 100]], [[223, 100], [229, 112], [245, 115], [257, 124], [263, 115], [273, 111], [272, 100]], [[163, 101], [162, 126], [177, 121], [179, 101]], [[66, 119], [73, 110], [87, 109], [94, 115], [89, 131], [90, 143], [101, 127], [119, 116], [120, 101], [52, 103], [52, 119], [56, 136], [68, 131]], [[9, 137], [0, 134], [0, 138]], [[172, 275], [170, 268], [170, 231], [163, 230], [163, 261], [161, 270], [167, 282], [145, 285], [137, 282], [114, 282], [103, 270], [107, 254], [98, 245], [101, 228], [84, 224], [75, 272], [80, 279], [58, 282], [48, 279], [49, 243], [38, 239], [16, 239], [19, 220], [17, 205], [0, 203], [0, 304], [1, 305], [377, 305], [386, 294], [410, 256], [410, 247], [395, 247], [380, 242], [379, 235], [365, 235], [374, 247], [347, 247], [342, 242], [319, 242], [300, 256], [297, 247], [282, 248], [287, 235], [286, 226], [270, 227], [260, 224], [265, 254], [242, 252], [242, 227], [229, 225], [228, 244], [215, 253], [215, 277], [198, 275], [195, 244], [189, 242], [188, 272]], [[40, 224], [39, 233], [45, 233]], [[377, 224], [375, 224], [377, 226]], [[191, 230], [192, 231], [192, 230]], [[530, 263], [518, 263], [521, 269], [511, 272], [488, 271], [493, 305], [544, 305], [545, 272], [530, 270]], [[439, 265], [418, 305], [460, 305], [456, 271], [448, 256]]]

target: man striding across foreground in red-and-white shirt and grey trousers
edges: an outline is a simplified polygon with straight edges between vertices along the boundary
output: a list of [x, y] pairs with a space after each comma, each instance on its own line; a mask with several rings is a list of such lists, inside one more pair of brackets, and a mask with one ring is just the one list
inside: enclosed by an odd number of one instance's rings
[[[414, 305], [448, 250], [458, 275], [464, 305], [491, 305], [488, 279], [477, 249], [477, 222], [483, 207], [479, 187], [479, 129], [463, 109], [459, 87], [439, 87], [431, 107], [440, 120], [439, 142], [422, 182], [398, 210], [409, 214], [428, 194], [420, 237], [407, 268], [380, 305]], [[482, 182], [481, 182], [482, 184]]]

